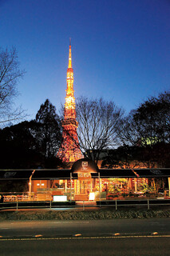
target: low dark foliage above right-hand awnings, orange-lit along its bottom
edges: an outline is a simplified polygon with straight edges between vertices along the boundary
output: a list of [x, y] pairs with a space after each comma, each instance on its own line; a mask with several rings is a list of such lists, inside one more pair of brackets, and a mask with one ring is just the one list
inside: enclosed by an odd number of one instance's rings
[[170, 166], [170, 144], [156, 143], [152, 146], [120, 146], [109, 150], [105, 156], [102, 167], [110, 168], [136, 168], [142, 163], [147, 168]]

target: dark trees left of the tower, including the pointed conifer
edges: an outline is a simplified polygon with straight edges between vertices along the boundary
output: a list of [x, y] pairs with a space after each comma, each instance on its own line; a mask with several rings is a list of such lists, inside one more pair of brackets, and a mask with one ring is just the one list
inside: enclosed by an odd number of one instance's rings
[[61, 143], [61, 122], [55, 107], [46, 99], [36, 118], [0, 130], [0, 168], [56, 167]]

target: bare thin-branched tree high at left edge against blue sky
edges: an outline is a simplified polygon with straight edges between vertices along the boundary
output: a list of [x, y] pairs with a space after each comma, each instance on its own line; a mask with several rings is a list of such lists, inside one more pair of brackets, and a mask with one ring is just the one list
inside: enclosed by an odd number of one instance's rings
[[16, 49], [0, 49], [0, 123], [23, 118], [22, 108], [14, 109], [14, 98], [18, 95], [17, 83], [24, 73], [19, 69]]

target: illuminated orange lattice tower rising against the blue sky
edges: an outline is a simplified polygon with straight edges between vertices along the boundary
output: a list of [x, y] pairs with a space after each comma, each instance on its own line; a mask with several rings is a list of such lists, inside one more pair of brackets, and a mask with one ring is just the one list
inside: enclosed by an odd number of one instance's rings
[[62, 121], [62, 142], [57, 157], [63, 162], [75, 162], [82, 158], [77, 138], [78, 122], [76, 120], [76, 104], [73, 90], [73, 68], [71, 43], [69, 42], [69, 65], [67, 69], [67, 90], [65, 97], [64, 120]]

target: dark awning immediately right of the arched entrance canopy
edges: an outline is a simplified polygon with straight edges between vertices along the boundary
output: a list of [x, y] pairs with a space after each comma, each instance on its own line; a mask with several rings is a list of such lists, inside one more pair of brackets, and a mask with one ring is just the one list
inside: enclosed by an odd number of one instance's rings
[[[99, 169], [100, 178], [137, 178], [129, 169]], [[98, 178], [99, 174], [92, 174], [92, 178]]]

